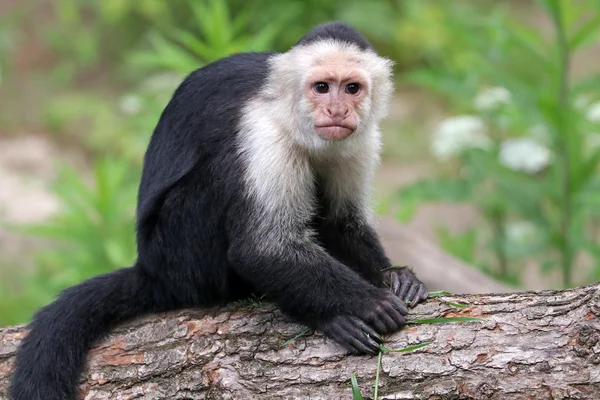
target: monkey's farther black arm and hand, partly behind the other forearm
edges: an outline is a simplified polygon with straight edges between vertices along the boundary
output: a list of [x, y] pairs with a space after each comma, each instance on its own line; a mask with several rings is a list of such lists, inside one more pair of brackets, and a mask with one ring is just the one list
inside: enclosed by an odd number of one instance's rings
[[390, 287], [413, 307], [427, 298], [425, 285], [408, 267], [392, 265], [373, 227], [358, 217], [325, 218], [319, 234], [329, 253], [374, 285]]

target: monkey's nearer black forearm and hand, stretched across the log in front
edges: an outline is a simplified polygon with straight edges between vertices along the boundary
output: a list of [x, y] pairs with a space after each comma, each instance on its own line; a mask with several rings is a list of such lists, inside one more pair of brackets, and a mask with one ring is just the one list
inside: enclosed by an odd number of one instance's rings
[[[256, 236], [254, 236], [256, 238]], [[347, 349], [377, 354], [379, 334], [405, 324], [406, 306], [314, 243], [255, 240], [234, 234], [231, 267], [283, 312], [322, 330]]]

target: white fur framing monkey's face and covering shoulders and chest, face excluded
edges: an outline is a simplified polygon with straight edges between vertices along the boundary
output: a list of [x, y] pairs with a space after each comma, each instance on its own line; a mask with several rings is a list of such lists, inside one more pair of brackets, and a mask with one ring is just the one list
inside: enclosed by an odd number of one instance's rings
[[[332, 52], [360, 60], [358, 68], [370, 79], [369, 96], [358, 110], [358, 129], [337, 142], [315, 134], [301, 89], [306, 69]], [[393, 91], [391, 62], [347, 43], [323, 41], [273, 56], [269, 69], [264, 87], [242, 110], [237, 136], [245, 191], [253, 204], [251, 229], [265, 239], [265, 246], [310, 236], [317, 176], [328, 217], [352, 210], [368, 222], [381, 150], [379, 121]]]

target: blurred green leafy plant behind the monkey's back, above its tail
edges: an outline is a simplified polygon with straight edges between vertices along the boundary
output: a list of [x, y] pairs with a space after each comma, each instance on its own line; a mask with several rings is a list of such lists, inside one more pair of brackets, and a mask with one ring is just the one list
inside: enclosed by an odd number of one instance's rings
[[61, 290], [135, 261], [139, 178], [139, 169], [113, 157], [96, 163], [93, 185], [72, 168], [60, 169], [53, 189], [61, 212], [43, 224], [13, 227], [49, 245], [37, 252], [36, 267], [26, 279], [3, 280], [0, 323], [26, 321]]

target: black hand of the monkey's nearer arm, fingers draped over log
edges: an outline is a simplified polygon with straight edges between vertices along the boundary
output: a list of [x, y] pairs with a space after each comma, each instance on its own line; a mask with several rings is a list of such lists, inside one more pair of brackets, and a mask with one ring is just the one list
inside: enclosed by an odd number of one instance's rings
[[408, 308], [389, 291], [377, 289], [376, 293], [377, 300], [366, 302], [360, 317], [338, 315], [319, 323], [317, 328], [353, 353], [377, 354], [383, 343], [379, 335], [402, 328]]

